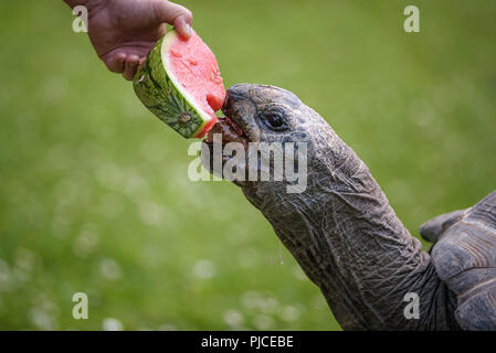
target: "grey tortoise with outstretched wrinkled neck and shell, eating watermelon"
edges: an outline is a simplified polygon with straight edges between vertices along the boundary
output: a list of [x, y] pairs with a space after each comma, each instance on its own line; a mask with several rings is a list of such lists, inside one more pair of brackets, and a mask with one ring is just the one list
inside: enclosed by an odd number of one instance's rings
[[[239, 182], [345, 330], [496, 329], [496, 193], [483, 205], [423, 226], [439, 239], [422, 252], [370, 174], [330, 126], [294, 94], [235, 85], [223, 113], [252, 142], [306, 141], [308, 181]], [[273, 128], [271, 115], [283, 119]], [[451, 222], [451, 223], [450, 223]], [[443, 226], [444, 224], [444, 226]], [[405, 293], [420, 297], [420, 319], [405, 319]]]

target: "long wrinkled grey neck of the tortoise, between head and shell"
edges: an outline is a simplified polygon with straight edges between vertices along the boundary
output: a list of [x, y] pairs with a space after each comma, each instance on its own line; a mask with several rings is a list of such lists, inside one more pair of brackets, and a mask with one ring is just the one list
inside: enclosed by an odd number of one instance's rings
[[404, 295], [414, 290], [418, 275], [435, 277], [430, 256], [397, 217], [367, 165], [337, 136], [334, 142], [331, 150], [308, 160], [304, 193], [256, 200], [260, 191], [244, 192], [320, 288], [344, 329], [400, 327]]

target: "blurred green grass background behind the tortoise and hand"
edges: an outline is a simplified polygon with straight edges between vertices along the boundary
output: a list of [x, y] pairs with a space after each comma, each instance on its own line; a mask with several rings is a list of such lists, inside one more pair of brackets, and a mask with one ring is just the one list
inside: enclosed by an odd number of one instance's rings
[[[295, 92], [415, 236], [496, 188], [495, 1], [181, 3], [226, 87]], [[189, 141], [72, 21], [62, 1], [0, 2], [0, 329], [339, 330], [241, 191], [188, 180]]]

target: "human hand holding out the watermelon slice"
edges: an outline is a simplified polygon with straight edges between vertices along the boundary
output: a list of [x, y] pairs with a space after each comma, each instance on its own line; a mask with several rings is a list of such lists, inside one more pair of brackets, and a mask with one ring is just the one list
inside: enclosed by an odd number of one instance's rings
[[190, 38], [192, 14], [167, 0], [65, 0], [88, 9], [88, 36], [109, 71], [133, 79], [155, 43], [166, 34], [165, 23]]

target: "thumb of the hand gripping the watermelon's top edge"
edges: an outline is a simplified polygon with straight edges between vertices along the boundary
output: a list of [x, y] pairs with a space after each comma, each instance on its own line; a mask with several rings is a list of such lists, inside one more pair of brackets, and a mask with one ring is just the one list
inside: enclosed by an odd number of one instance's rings
[[179, 35], [186, 39], [191, 36], [193, 14], [190, 10], [167, 0], [155, 0], [154, 11], [160, 23], [172, 24]]

